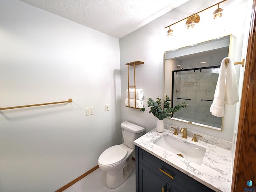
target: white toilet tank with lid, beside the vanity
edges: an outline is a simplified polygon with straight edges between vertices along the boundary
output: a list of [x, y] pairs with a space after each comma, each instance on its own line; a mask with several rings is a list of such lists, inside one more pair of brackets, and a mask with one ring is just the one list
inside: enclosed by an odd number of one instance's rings
[[124, 145], [130, 147], [131, 149], [135, 149], [135, 145], [133, 141], [141, 137], [144, 133], [145, 128], [140, 127], [139, 125], [135, 125], [128, 121], [124, 121], [121, 123], [122, 134], [124, 139]]

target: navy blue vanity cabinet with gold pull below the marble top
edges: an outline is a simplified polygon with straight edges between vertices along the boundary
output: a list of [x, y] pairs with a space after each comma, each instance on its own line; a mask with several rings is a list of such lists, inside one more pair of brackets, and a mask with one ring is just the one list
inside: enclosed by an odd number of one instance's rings
[[136, 192], [213, 192], [136, 146]]

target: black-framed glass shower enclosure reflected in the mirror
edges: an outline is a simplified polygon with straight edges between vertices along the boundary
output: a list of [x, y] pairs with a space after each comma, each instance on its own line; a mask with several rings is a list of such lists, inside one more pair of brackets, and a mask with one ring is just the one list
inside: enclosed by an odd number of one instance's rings
[[222, 118], [210, 113], [220, 66], [172, 71], [172, 106], [186, 102], [188, 108], [173, 118], [221, 128]]

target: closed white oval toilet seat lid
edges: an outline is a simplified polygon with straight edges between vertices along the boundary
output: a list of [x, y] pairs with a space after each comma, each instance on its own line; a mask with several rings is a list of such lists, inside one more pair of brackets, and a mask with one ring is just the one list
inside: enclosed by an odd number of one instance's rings
[[123, 161], [127, 155], [127, 150], [120, 145], [114, 145], [106, 149], [99, 157], [98, 162], [103, 166], [116, 165]]

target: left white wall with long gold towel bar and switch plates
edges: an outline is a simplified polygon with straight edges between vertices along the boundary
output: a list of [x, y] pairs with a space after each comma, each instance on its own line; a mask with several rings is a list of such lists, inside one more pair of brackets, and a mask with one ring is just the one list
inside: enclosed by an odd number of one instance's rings
[[18, 0], [0, 4], [0, 107], [73, 99], [0, 112], [0, 191], [55, 191], [122, 142], [119, 39]]

